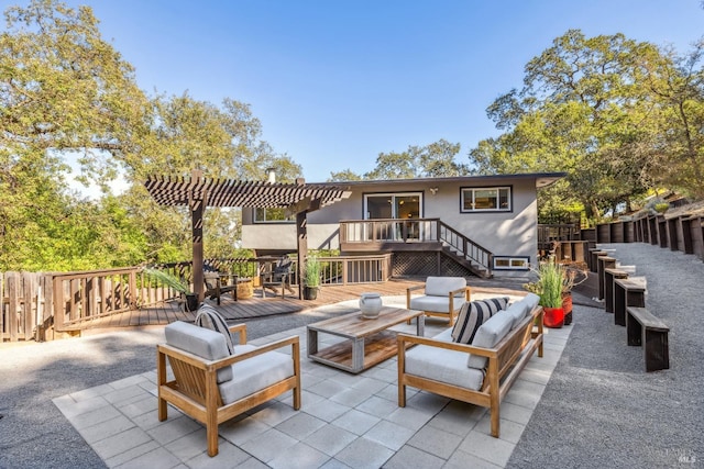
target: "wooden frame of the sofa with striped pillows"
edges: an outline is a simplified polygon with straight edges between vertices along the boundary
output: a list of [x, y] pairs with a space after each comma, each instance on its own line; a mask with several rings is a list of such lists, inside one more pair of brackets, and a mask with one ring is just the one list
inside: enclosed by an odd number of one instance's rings
[[[499, 436], [501, 403], [516, 381], [532, 354], [538, 350], [542, 357], [542, 306], [535, 308], [516, 328], [510, 331], [494, 348], [474, 347], [454, 342], [437, 340], [399, 334], [398, 340], [398, 405], [406, 406], [406, 387], [422, 389], [471, 404], [490, 409], [492, 436]], [[536, 325], [537, 324], [537, 325]], [[413, 345], [429, 345], [449, 350], [464, 351], [488, 358], [486, 376], [480, 390], [461, 388], [454, 384], [406, 373], [406, 348]], [[468, 357], [469, 358], [469, 357]]]

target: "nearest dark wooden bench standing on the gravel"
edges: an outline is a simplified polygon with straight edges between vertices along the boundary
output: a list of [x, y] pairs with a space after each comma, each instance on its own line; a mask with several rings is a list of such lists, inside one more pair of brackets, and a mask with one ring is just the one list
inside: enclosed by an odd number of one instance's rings
[[645, 308], [628, 306], [626, 311], [628, 345], [642, 346], [646, 371], [669, 369], [668, 332], [670, 327]]

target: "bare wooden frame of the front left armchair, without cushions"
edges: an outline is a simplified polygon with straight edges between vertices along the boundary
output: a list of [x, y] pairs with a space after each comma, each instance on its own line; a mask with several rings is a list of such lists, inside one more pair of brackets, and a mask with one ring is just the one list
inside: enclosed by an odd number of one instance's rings
[[[245, 324], [231, 326], [230, 332], [240, 333], [241, 345], [246, 343]], [[292, 347], [294, 376], [223, 405], [217, 382], [219, 369], [286, 346]], [[166, 344], [160, 344], [156, 348], [158, 420], [163, 422], [167, 418], [167, 403], [170, 403], [183, 413], [206, 425], [208, 456], [212, 457], [218, 454], [218, 426], [222, 422], [287, 391], [293, 391], [294, 409], [300, 409], [300, 344], [298, 336], [283, 338], [260, 346], [254, 350], [213, 361], [205, 360], [197, 355]], [[167, 380], [166, 357], [168, 357], [175, 377], [170, 381]]]

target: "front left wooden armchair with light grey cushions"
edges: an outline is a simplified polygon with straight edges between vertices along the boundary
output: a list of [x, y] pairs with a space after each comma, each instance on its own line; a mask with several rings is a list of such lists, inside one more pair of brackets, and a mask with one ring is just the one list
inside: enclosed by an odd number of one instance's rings
[[[156, 346], [158, 420], [167, 403], [206, 425], [208, 456], [218, 454], [218, 425], [271, 399], [293, 391], [300, 409], [300, 345], [298, 336], [255, 347], [246, 344], [246, 325], [230, 327], [240, 344], [231, 355], [224, 336], [190, 323], [166, 326], [166, 344]], [[275, 351], [290, 346], [290, 355]], [[166, 358], [174, 375], [168, 380]]]

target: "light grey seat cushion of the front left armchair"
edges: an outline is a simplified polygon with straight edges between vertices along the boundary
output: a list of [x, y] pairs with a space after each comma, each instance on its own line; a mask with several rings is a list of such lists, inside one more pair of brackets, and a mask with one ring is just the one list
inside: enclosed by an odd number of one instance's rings
[[290, 355], [267, 351], [239, 361], [228, 369], [232, 372], [232, 380], [218, 387], [224, 404], [294, 376], [294, 361]]

